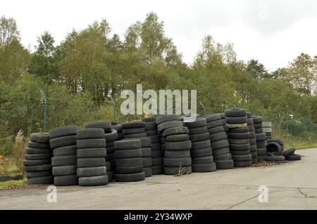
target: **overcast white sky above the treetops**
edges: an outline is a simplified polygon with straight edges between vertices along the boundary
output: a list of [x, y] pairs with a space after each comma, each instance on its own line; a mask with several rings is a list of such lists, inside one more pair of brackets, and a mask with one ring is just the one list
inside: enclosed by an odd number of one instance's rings
[[48, 30], [58, 44], [73, 28], [84, 29], [105, 18], [112, 33], [125, 33], [154, 11], [165, 23], [183, 60], [192, 63], [204, 35], [235, 45], [237, 57], [258, 59], [268, 70], [285, 67], [300, 53], [317, 55], [316, 0], [10, 0], [1, 1], [0, 16], [18, 23], [25, 46]]

